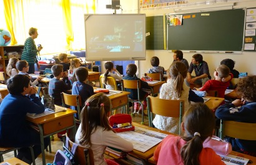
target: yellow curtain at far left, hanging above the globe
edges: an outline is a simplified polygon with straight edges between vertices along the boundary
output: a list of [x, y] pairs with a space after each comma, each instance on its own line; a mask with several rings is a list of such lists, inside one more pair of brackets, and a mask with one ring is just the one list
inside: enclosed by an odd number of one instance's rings
[[11, 45], [15, 45], [17, 44], [17, 40], [14, 35], [15, 21], [12, 20], [12, 15], [15, 15], [14, 1], [4, 0], [4, 17], [7, 22], [6, 27], [7, 30], [11, 33]]

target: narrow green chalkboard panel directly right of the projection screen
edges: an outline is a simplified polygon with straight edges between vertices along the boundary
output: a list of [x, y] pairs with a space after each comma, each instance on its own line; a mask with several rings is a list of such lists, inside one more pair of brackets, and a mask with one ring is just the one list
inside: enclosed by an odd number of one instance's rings
[[165, 26], [164, 16], [146, 17], [146, 33], [149, 32], [146, 39], [147, 50], [164, 50], [165, 42]]

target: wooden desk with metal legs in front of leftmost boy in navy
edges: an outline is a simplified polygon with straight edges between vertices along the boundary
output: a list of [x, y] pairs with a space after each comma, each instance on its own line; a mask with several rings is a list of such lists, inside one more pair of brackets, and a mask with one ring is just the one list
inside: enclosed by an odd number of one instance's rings
[[44, 138], [71, 128], [74, 130], [74, 137], [76, 134], [76, 120], [74, 118], [74, 113], [77, 111], [57, 105], [55, 105], [55, 108], [56, 111], [62, 111], [35, 119], [26, 117], [27, 121], [30, 121], [39, 127], [43, 165], [46, 164], [44, 153]]

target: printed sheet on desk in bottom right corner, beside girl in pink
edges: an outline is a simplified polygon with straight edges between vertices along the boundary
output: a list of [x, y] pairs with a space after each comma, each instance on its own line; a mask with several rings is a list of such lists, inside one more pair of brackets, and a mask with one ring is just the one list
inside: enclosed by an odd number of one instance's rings
[[235, 156], [232, 154], [228, 154], [227, 156], [220, 156], [222, 161], [228, 165], [245, 165], [249, 162], [249, 159], [242, 158], [239, 156]]

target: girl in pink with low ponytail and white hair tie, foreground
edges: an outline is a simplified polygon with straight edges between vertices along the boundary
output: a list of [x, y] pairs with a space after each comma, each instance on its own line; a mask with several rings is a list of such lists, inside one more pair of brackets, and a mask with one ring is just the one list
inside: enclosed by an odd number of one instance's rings
[[212, 137], [215, 118], [203, 103], [195, 103], [185, 111], [182, 120], [184, 136], [169, 134], [157, 146], [154, 160], [157, 164], [225, 165], [212, 148], [203, 148], [205, 139]]

